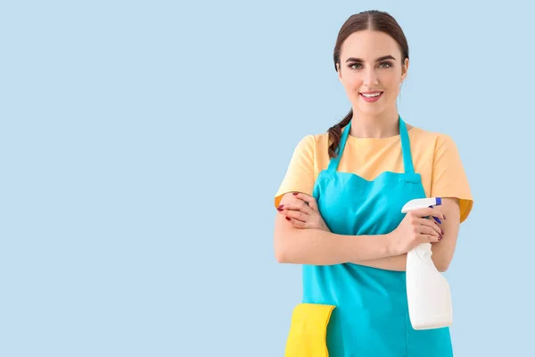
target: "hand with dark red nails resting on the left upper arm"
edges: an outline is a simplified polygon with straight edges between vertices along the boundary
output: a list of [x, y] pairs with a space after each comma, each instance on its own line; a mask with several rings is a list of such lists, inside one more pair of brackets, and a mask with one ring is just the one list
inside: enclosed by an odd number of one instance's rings
[[286, 220], [292, 223], [293, 227], [316, 228], [330, 232], [317, 208], [316, 198], [297, 192], [293, 193], [293, 197], [296, 199], [284, 205], [281, 204], [277, 208], [277, 211], [286, 216]]

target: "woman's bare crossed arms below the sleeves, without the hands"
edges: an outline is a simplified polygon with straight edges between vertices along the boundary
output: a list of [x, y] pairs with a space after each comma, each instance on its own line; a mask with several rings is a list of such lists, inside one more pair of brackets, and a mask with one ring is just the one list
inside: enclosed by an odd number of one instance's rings
[[[292, 203], [302, 201], [298, 197], [314, 200], [309, 195], [295, 196], [289, 193], [283, 196], [281, 204], [286, 207], [296, 206]], [[444, 272], [449, 268], [457, 245], [460, 225], [458, 199], [442, 197], [441, 210], [446, 217], [446, 220], [441, 220], [440, 224], [444, 234], [440, 242], [432, 243], [432, 261], [437, 270]], [[321, 226], [323, 219], [319, 212], [316, 212], [316, 215], [306, 215], [307, 217], [304, 218], [313, 220], [315, 228], [305, 228], [306, 225], [302, 223], [302, 220], [292, 218], [295, 216], [294, 210], [282, 209], [279, 213], [276, 215], [274, 235], [278, 262], [316, 265], [353, 262], [383, 270], [406, 270], [407, 253], [392, 254], [386, 235], [337, 235]]]

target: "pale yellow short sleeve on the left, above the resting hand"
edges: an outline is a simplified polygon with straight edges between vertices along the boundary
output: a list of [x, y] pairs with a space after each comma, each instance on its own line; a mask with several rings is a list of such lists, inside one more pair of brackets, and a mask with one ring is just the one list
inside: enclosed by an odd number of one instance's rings
[[288, 165], [283, 182], [275, 195], [275, 206], [278, 207], [281, 198], [288, 192], [301, 192], [312, 195], [315, 182], [314, 170], [314, 137], [303, 137], [295, 147], [292, 160]]

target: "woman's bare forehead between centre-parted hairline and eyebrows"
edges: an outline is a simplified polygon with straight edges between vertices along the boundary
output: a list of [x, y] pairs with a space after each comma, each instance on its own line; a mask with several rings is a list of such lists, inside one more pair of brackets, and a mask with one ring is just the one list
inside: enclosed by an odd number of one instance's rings
[[366, 29], [354, 32], [342, 45], [341, 60], [358, 57], [365, 61], [374, 61], [383, 55], [391, 54], [399, 59], [398, 43], [388, 34]]

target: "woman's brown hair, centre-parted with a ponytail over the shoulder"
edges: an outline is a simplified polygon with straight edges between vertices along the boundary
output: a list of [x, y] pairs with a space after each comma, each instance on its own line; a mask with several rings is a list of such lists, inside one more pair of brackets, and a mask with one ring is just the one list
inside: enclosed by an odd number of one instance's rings
[[[396, 21], [388, 12], [369, 10], [351, 15], [350, 18], [342, 25], [342, 29], [340, 29], [338, 37], [336, 38], [336, 45], [334, 46], [334, 70], [338, 71], [336, 64], [338, 64], [342, 69], [342, 64], [340, 63], [340, 53], [342, 52], [342, 45], [344, 41], [354, 32], [365, 29], [384, 32], [396, 40], [399, 45], [399, 50], [401, 51], [401, 64], [405, 63], [405, 59], [408, 58], [408, 44], [407, 38], [399, 26], [398, 21]], [[329, 128], [329, 141], [332, 143], [329, 145], [329, 157], [337, 156], [336, 151], [338, 150], [338, 145], [340, 145], [342, 128], [350, 123], [351, 118], [353, 118], [352, 108], [345, 118], [342, 119], [342, 121]]]

